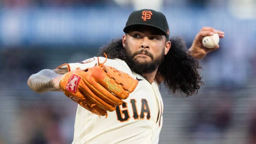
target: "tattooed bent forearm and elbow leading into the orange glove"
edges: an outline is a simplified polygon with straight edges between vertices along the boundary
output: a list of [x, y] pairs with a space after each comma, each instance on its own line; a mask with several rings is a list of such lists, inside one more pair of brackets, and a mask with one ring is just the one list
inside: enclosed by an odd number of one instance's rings
[[62, 75], [55, 73], [53, 70], [44, 69], [33, 74], [28, 79], [28, 86], [35, 92], [42, 93], [46, 91], [61, 91], [58, 87], [58, 79]]

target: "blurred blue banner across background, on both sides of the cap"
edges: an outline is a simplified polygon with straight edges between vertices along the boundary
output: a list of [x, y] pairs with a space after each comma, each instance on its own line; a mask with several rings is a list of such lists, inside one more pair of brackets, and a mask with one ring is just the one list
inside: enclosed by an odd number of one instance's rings
[[[120, 8], [0, 9], [0, 46], [93, 45], [121, 38], [133, 10]], [[203, 26], [248, 31], [255, 37], [255, 20], [241, 21], [226, 10], [164, 10], [171, 36], [193, 40]], [[248, 34], [247, 33], [247, 34]], [[248, 34], [248, 35], [249, 35]]]

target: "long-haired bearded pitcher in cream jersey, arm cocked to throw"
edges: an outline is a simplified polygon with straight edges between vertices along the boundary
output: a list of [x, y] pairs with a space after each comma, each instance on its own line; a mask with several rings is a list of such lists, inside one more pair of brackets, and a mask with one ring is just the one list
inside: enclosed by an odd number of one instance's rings
[[36, 92], [63, 91], [78, 103], [73, 144], [157, 144], [163, 121], [158, 86], [187, 96], [197, 93], [202, 83], [197, 59], [219, 48], [203, 47], [202, 38], [224, 37], [203, 27], [188, 50], [181, 38], [169, 39], [165, 16], [152, 9], [132, 12], [123, 31], [122, 39], [97, 57], [44, 69], [28, 79]]

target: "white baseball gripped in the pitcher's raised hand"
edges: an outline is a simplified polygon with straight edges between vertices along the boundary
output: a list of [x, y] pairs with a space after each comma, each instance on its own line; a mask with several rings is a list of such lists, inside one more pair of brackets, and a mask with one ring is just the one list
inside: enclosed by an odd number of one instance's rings
[[206, 36], [203, 38], [202, 43], [204, 47], [215, 48], [219, 44], [220, 38], [217, 33], [214, 33], [213, 36]]

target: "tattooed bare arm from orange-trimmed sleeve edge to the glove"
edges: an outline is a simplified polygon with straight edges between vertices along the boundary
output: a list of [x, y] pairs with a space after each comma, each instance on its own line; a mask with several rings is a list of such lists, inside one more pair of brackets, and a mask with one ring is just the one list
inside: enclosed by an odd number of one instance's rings
[[40, 72], [33, 74], [28, 79], [28, 86], [38, 93], [46, 91], [58, 91], [53, 84], [53, 78], [68, 72], [67, 68], [59, 69], [43, 69]]

